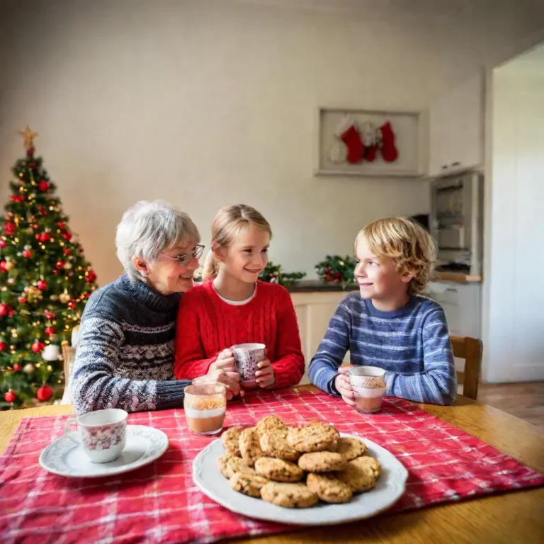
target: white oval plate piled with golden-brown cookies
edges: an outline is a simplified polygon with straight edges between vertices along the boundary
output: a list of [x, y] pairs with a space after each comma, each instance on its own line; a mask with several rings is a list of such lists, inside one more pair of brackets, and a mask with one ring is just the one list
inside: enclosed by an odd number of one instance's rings
[[193, 480], [225, 508], [251, 518], [334, 525], [375, 516], [404, 493], [408, 472], [378, 444], [322, 421], [288, 426], [265, 416], [231, 427], [193, 462]]

